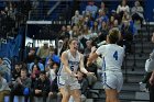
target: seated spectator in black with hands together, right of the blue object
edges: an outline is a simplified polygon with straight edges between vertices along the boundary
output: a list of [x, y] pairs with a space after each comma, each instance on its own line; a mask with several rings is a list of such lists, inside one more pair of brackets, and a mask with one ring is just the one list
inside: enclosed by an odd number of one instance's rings
[[33, 94], [36, 97], [43, 97], [43, 102], [46, 102], [50, 92], [50, 79], [46, 77], [45, 71], [41, 71], [40, 78], [35, 81]]

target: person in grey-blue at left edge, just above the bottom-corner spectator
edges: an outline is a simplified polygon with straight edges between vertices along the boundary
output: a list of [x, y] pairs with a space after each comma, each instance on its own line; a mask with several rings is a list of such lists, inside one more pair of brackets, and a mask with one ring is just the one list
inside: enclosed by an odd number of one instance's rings
[[0, 57], [0, 71], [4, 73], [4, 79], [7, 79], [7, 82], [10, 81], [10, 68], [8, 67], [7, 64], [3, 63], [3, 58]]

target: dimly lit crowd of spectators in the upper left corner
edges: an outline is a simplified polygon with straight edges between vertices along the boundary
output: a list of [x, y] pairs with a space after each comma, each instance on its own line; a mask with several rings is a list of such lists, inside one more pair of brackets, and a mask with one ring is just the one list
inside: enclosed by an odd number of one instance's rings
[[0, 41], [15, 37], [18, 29], [28, 18], [31, 10], [29, 0], [0, 1]]

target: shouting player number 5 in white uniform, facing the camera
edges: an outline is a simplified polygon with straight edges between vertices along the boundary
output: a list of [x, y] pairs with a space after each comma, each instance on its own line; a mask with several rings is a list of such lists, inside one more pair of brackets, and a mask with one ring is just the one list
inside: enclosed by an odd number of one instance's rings
[[62, 102], [68, 102], [70, 95], [75, 102], [80, 102], [80, 84], [77, 80], [78, 68], [84, 73], [94, 75], [84, 67], [84, 56], [78, 52], [77, 39], [70, 39], [69, 49], [62, 54], [62, 65], [57, 77], [58, 88], [63, 95]]

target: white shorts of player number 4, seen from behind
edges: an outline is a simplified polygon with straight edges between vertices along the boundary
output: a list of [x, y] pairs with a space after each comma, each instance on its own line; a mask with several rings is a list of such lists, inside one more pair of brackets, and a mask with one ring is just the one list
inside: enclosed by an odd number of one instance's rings
[[103, 88], [116, 89], [118, 92], [121, 91], [123, 86], [123, 75], [119, 71], [106, 71], [103, 75]]

